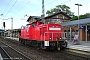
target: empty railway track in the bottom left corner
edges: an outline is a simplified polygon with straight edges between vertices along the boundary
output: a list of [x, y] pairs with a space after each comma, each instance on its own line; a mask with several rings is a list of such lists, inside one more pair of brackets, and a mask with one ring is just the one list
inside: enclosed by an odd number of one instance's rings
[[0, 52], [3, 60], [32, 60], [15, 48], [0, 41]]

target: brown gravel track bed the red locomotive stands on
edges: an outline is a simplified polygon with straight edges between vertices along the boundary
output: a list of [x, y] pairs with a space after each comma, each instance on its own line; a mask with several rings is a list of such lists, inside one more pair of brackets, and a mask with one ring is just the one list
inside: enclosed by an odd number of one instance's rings
[[[22, 51], [22, 53], [25, 53], [27, 56], [30, 56], [32, 60], [90, 60], [90, 53], [88, 52], [81, 52], [75, 50], [71, 51], [70, 49], [66, 49], [65, 51], [46, 52], [44, 50], [38, 50], [36, 48], [20, 44], [19, 42], [14, 40], [2, 39], [2, 41], [11, 46], [13, 45], [13, 47], [16, 49], [20, 49], [19, 51]], [[6, 47], [6, 45], [1, 46]]]

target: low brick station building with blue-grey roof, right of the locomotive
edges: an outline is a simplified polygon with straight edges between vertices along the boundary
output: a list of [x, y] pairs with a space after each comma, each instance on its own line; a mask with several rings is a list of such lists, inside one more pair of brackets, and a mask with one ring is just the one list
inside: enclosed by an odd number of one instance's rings
[[90, 41], [90, 18], [64, 22], [62, 26], [64, 37], [69, 40], [73, 40], [75, 33], [79, 31], [81, 41]]

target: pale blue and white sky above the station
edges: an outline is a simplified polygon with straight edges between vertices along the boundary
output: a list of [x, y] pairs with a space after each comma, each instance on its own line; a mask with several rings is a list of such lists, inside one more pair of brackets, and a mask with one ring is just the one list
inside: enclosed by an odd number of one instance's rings
[[[71, 12], [78, 15], [76, 3], [82, 4], [79, 7], [80, 15], [90, 12], [89, 0], [44, 0], [44, 8], [46, 12], [57, 5], [65, 4], [70, 7]], [[25, 16], [26, 14], [28, 16]], [[11, 17], [13, 18], [13, 29], [18, 29], [28, 23], [26, 21], [29, 16], [41, 16], [41, 14], [42, 0], [0, 0], [0, 29], [3, 29], [3, 22], [6, 24], [5, 29], [11, 29]]]

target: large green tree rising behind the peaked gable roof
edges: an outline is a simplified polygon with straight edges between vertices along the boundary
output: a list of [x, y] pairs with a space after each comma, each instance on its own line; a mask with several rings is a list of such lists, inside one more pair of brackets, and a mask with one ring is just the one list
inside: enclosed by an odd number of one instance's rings
[[51, 10], [47, 10], [46, 14], [51, 15], [53, 13], [56, 13], [58, 11], [62, 11], [67, 13], [69, 16], [74, 16], [74, 13], [70, 11], [70, 7], [66, 5], [57, 5], [55, 8]]

